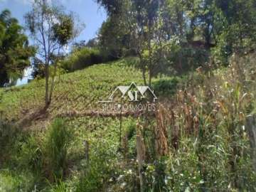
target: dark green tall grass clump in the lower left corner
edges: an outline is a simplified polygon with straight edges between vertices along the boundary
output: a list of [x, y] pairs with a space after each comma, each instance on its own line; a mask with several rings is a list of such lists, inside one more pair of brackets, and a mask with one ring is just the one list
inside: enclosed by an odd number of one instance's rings
[[[14, 130], [8, 128], [9, 132]], [[5, 143], [1, 145], [0, 151], [3, 154], [0, 161], [4, 162], [0, 166], [0, 176], [3, 179], [0, 179], [0, 183], [3, 182], [3, 188], [7, 190], [5, 182], [8, 179], [9, 187], [13, 190], [18, 188], [30, 191], [34, 188], [46, 188], [46, 179], [50, 183], [58, 183], [57, 186], [51, 187], [54, 190], [64, 188], [62, 179], [67, 174], [68, 149], [74, 138], [73, 131], [65, 121], [55, 119], [46, 132], [39, 134], [15, 132], [16, 134], [8, 134], [10, 138], [7, 137], [7, 133], [0, 137]]]

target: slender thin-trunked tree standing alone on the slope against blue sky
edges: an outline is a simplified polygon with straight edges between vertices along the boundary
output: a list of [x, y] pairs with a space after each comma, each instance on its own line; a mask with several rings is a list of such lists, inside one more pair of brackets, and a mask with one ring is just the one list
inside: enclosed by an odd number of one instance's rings
[[[42, 58], [44, 75], [46, 78], [45, 107], [50, 105], [54, 77], [49, 82], [49, 66], [54, 65], [54, 73], [57, 63], [53, 58], [59, 58], [61, 50], [78, 35], [79, 29], [75, 28], [75, 17], [72, 13], [65, 14], [63, 7], [55, 6], [46, 0], [35, 0], [32, 11], [25, 15], [27, 27], [38, 46], [39, 58]], [[58, 59], [57, 59], [58, 60]]]

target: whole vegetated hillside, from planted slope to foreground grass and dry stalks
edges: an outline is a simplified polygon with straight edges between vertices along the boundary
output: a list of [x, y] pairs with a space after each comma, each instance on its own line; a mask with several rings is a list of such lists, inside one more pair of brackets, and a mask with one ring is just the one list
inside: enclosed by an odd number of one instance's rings
[[148, 191], [255, 191], [245, 129], [256, 106], [253, 61], [233, 58], [188, 80], [155, 78], [154, 118], [122, 117], [121, 130], [119, 115], [55, 117], [97, 110], [117, 85], [142, 84], [131, 58], [61, 75], [52, 105], [37, 116], [43, 80], [1, 89], [0, 191], [139, 191], [139, 142]]

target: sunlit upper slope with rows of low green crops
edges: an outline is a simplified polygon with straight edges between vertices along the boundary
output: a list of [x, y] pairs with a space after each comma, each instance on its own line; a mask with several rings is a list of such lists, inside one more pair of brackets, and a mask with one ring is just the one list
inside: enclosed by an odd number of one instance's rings
[[[141, 83], [142, 75], [133, 64], [133, 59], [118, 60], [58, 76], [50, 115], [95, 110], [97, 101], [106, 99], [117, 85]], [[44, 80], [0, 91], [0, 111], [9, 120], [22, 119], [44, 105]]]

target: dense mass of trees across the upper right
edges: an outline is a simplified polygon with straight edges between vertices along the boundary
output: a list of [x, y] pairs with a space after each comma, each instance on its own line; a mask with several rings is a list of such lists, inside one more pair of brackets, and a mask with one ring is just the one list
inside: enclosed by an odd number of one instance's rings
[[183, 73], [207, 66], [209, 60], [228, 65], [233, 53], [255, 50], [253, 0], [97, 3], [108, 14], [100, 29], [100, 47], [114, 57], [138, 56], [144, 84], [150, 85], [159, 73]]

